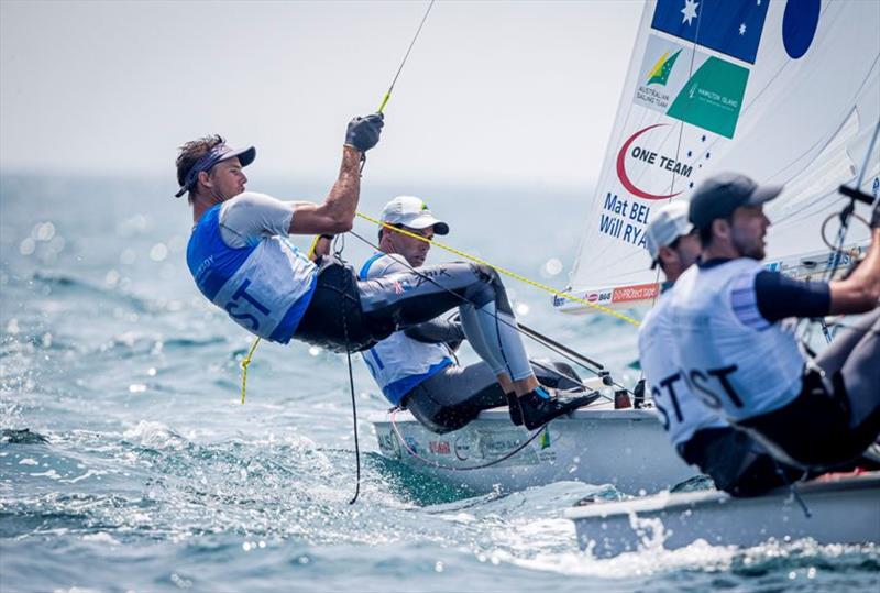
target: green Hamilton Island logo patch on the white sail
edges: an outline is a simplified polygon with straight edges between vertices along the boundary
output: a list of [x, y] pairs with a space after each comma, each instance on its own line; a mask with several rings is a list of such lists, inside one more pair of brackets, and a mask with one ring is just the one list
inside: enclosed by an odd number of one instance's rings
[[749, 70], [710, 57], [694, 73], [667, 114], [725, 138], [734, 138]]

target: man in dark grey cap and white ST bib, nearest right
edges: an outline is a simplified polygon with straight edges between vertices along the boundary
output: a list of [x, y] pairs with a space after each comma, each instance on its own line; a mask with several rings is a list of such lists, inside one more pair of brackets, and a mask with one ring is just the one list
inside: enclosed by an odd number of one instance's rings
[[[683, 378], [701, 400], [802, 466], [851, 461], [880, 433], [880, 229], [840, 281], [809, 282], [763, 267], [782, 191], [745, 175], [706, 179], [691, 197], [700, 262], [671, 290], [670, 322]], [[868, 312], [809, 359], [782, 320]]]

